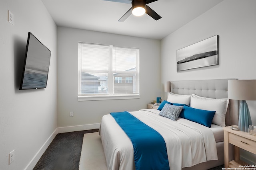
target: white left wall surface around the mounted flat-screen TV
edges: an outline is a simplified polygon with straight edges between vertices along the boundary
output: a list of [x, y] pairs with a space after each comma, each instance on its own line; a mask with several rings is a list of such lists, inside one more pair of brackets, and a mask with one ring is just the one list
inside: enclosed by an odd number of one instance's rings
[[[8, 10], [14, 14], [14, 25], [7, 21]], [[46, 89], [18, 90], [28, 31], [52, 51]], [[1, 170], [32, 169], [39, 159], [34, 156], [48, 138], [54, 136], [57, 123], [56, 42], [56, 24], [40, 0], [0, 1]], [[8, 154], [13, 149], [15, 159], [8, 165]]]

